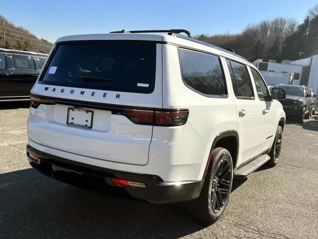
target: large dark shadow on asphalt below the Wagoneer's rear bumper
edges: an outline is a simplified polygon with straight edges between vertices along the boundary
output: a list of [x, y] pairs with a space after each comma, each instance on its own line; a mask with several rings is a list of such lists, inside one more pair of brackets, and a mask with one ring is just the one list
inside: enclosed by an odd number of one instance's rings
[[114, 196], [34, 169], [0, 174], [0, 238], [179, 238], [205, 228], [182, 204]]

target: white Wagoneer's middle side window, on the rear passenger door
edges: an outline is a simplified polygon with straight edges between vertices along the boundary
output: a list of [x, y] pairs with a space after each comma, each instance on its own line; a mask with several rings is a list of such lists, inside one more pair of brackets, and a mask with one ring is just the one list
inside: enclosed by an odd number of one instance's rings
[[246, 66], [235, 61], [227, 61], [236, 97], [253, 99], [254, 93], [252, 83], [249, 79]]

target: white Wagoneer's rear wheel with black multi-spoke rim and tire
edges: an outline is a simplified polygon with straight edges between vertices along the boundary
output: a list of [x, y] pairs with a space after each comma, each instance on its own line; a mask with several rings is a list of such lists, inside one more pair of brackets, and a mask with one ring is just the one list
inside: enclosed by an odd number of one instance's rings
[[209, 224], [216, 222], [223, 215], [233, 181], [233, 162], [230, 152], [221, 147], [211, 152], [210, 165], [201, 194], [195, 201], [187, 203], [187, 210], [191, 216]]

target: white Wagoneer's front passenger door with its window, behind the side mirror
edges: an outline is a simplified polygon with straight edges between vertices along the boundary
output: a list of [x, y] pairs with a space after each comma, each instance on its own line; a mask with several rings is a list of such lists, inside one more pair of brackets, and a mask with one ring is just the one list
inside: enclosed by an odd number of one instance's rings
[[261, 130], [259, 137], [258, 153], [264, 152], [271, 148], [273, 138], [275, 137], [277, 125], [276, 119], [276, 106], [269, 96], [268, 88], [262, 76], [253, 68], [249, 68], [251, 78], [254, 81], [257, 95], [257, 102], [259, 102], [260, 115], [261, 115]]

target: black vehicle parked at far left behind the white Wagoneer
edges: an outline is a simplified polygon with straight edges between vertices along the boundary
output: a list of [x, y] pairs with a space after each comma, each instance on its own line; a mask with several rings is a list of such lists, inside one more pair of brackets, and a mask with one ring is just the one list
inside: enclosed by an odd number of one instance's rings
[[47, 54], [0, 48], [0, 102], [30, 100]]

